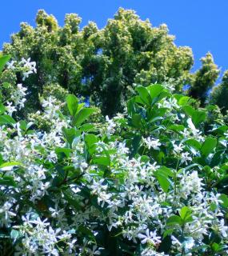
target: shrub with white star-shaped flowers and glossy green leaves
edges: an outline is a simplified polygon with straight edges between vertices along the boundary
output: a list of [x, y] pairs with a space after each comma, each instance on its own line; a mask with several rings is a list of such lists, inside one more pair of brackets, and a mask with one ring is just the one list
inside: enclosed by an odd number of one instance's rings
[[67, 115], [44, 99], [48, 132], [12, 118], [23, 86], [1, 105], [3, 254], [228, 253], [228, 127], [205, 133], [205, 110], [166, 86], [136, 91], [127, 113], [96, 125], [74, 95]]

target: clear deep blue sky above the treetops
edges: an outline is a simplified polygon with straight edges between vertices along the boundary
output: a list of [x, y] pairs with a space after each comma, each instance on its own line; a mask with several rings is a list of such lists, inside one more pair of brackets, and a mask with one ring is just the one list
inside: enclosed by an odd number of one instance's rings
[[153, 26], [166, 23], [178, 46], [192, 47], [194, 69], [208, 51], [222, 71], [228, 69], [228, 0], [2, 0], [0, 46], [10, 41], [10, 34], [19, 30], [20, 22], [34, 26], [39, 9], [54, 14], [61, 26], [66, 13], [77, 13], [82, 26], [90, 20], [101, 28], [120, 6], [136, 10]]

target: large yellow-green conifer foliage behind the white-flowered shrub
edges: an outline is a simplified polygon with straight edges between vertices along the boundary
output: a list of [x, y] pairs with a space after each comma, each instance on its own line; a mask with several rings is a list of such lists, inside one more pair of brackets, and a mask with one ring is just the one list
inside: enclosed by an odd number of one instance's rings
[[[31, 96], [26, 105], [29, 113], [42, 108], [38, 94], [57, 85], [90, 97], [92, 105], [110, 116], [123, 110], [136, 84], [168, 82], [175, 92], [190, 85], [190, 95], [203, 105], [207, 90], [218, 77], [211, 54], [202, 58], [200, 70], [190, 74], [191, 49], [175, 46], [165, 24], [154, 27], [133, 10], [120, 8], [102, 30], [94, 22], [80, 30], [77, 14], [66, 14], [65, 24], [60, 27], [54, 16], [39, 10], [36, 22], [35, 28], [22, 23], [12, 42], [3, 47], [14, 61], [31, 58], [37, 63], [37, 74], [24, 82]], [[22, 76], [12, 73], [2, 82], [13, 79], [22, 83]]]

